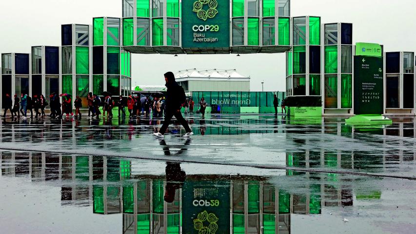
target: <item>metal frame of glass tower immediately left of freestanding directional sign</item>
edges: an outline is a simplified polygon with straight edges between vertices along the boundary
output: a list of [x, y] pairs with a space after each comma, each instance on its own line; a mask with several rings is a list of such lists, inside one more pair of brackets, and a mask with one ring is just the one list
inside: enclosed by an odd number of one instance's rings
[[[353, 32], [352, 32], [352, 24], [350, 23], [325, 23], [321, 24], [321, 95], [322, 95], [322, 114], [325, 115], [334, 115], [337, 116], [351, 116], [354, 113], [354, 67], [352, 67], [351, 73], [342, 72], [341, 71], [341, 57], [342, 48], [346, 46], [350, 46], [352, 49], [351, 55], [348, 55], [348, 61], [351, 62], [354, 66], [354, 56], [355, 56], [355, 46], [353, 44], [343, 44], [341, 43], [341, 28], [342, 24], [351, 25], [351, 42], [353, 42]], [[328, 25], [330, 27], [328, 27]], [[335, 32], [336, 30], [336, 32]], [[336, 35], [336, 36], [335, 36]], [[337, 72], [336, 73], [327, 73], [326, 65], [325, 64], [325, 48], [329, 48], [328, 46], [337, 46]], [[336, 76], [337, 77], [337, 107], [336, 108], [327, 108], [325, 106], [325, 77], [326, 76]], [[352, 79], [352, 88], [351, 93], [348, 93], [348, 97], [351, 97], [351, 108], [342, 108], [341, 104], [341, 84], [342, 84], [342, 77], [345, 75], [350, 75]]]

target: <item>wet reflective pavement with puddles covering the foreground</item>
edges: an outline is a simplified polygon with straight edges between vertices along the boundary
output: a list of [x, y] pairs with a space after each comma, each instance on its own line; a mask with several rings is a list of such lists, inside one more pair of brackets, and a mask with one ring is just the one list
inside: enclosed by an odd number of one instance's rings
[[415, 233], [414, 118], [186, 118], [3, 119], [1, 233]]

